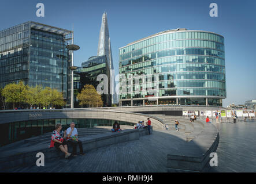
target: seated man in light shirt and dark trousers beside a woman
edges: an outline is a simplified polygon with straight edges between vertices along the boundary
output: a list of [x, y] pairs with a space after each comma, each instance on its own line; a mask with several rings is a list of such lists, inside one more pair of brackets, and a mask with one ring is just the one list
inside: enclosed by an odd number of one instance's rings
[[71, 144], [71, 146], [73, 147], [73, 152], [72, 152], [73, 156], [77, 155], [77, 152], [76, 152], [77, 144], [79, 145], [80, 155], [84, 155], [83, 144], [78, 139], [78, 133], [77, 133], [77, 129], [75, 128], [75, 122], [71, 122], [71, 127], [66, 129], [66, 141], [68, 142], [68, 144]]

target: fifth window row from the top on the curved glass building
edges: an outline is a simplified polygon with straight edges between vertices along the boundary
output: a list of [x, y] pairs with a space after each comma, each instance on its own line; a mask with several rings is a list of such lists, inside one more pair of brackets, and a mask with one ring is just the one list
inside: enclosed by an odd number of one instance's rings
[[[219, 72], [225, 74], [225, 67], [216, 66], [213, 64], [166, 64], [164, 66], [151, 67], [144, 70], [139, 70], [141, 68], [136, 68], [138, 71], [129, 72], [132, 75], [151, 75], [158, 74], [162, 72], [175, 72], [175, 71], [210, 71]], [[120, 68], [120, 73], [123, 74], [127, 72], [125, 68]], [[127, 77], [127, 74], [125, 74]]]

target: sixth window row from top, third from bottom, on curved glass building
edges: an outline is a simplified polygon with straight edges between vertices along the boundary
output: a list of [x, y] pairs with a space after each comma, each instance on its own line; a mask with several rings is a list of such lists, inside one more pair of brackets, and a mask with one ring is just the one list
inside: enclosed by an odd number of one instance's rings
[[[158, 76], [157, 76], [158, 75]], [[213, 80], [217, 80], [217, 81], [225, 81], [225, 74], [218, 74], [218, 73], [209, 73], [209, 72], [194, 72], [194, 71], [190, 71], [190, 72], [166, 72], [166, 73], [162, 73], [162, 74], [153, 74], [153, 76], [149, 76], [152, 79], [150, 79], [151, 81], [155, 81], [158, 78], [158, 81], [166, 81], [166, 80], [176, 80], [176, 79], [213, 79]], [[122, 80], [122, 78], [120, 78], [120, 81], [123, 83], [129, 83], [129, 80], [131, 80], [130, 77], [128, 77], [129, 79], [124, 79]], [[142, 77], [138, 77], [138, 78], [132, 78], [132, 83], [134, 84], [135, 81], [136, 83], [142, 83], [143, 78]], [[146, 78], [144, 79], [144, 81], [148, 81]]]

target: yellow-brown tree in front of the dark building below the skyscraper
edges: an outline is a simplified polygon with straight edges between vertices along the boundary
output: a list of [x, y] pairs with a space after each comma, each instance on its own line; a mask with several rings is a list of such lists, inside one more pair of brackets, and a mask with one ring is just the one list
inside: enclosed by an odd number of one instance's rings
[[103, 105], [101, 95], [98, 94], [92, 85], [85, 85], [81, 90], [81, 93], [77, 94], [77, 99], [79, 100], [79, 105], [81, 105], [81, 107], [86, 105], [89, 108], [98, 108]]

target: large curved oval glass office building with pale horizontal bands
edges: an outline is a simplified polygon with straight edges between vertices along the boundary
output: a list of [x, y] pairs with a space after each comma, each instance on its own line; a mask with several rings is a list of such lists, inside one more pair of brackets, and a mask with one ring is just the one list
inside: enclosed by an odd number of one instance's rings
[[224, 37], [166, 30], [119, 49], [119, 103], [222, 106], [226, 98]]

